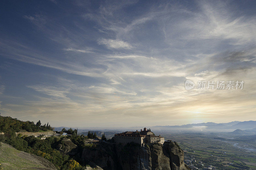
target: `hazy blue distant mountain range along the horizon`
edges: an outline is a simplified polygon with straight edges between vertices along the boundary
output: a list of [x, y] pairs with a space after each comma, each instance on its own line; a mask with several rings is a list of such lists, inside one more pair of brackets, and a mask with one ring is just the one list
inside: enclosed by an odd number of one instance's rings
[[[68, 127], [58, 127], [54, 128], [54, 130], [60, 131], [61, 129], [69, 129]], [[111, 135], [115, 133], [120, 133], [122, 131], [136, 131], [143, 129], [144, 127], [130, 127], [130, 128], [109, 128], [109, 129], [78, 129], [78, 133], [88, 132], [90, 131], [99, 131], [101, 132], [109, 132]], [[256, 128], [256, 121], [234, 121], [228, 123], [214, 123], [214, 122], [207, 122], [207, 123], [194, 123], [194, 124], [185, 124], [180, 126], [151, 126], [146, 127], [150, 128], [153, 132], [161, 133], [161, 132], [231, 132], [236, 129], [240, 130], [248, 130]], [[238, 131], [237, 131], [238, 132]], [[236, 132], [235, 132], [236, 133]], [[241, 132], [242, 133], [242, 132]]]

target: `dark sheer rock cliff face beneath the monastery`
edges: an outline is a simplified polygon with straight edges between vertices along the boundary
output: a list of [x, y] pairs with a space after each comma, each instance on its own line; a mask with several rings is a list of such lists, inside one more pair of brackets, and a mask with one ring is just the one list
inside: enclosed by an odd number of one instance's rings
[[100, 142], [95, 148], [85, 148], [81, 160], [104, 170], [187, 170], [184, 153], [173, 142], [125, 146]]

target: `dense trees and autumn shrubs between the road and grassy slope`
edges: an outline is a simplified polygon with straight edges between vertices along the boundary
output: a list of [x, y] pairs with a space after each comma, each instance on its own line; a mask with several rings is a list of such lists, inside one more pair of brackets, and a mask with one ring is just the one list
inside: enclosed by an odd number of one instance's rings
[[[64, 137], [65, 138], [65, 137]], [[84, 146], [84, 143], [80, 136], [72, 135], [70, 137], [80, 149]], [[12, 145], [14, 148], [41, 156], [49, 161], [51, 161], [57, 169], [70, 169], [70, 170], [80, 170], [82, 166], [70, 158], [67, 154], [61, 153], [57, 150], [58, 144], [63, 143], [63, 138], [59, 137], [47, 137], [41, 140], [34, 136], [16, 136], [15, 133], [0, 135], [0, 142], [4, 142]], [[72, 160], [72, 161], [71, 161]]]

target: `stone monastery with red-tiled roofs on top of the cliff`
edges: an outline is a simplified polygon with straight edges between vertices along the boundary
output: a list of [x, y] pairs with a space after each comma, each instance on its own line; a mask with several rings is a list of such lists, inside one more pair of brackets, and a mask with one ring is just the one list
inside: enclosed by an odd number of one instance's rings
[[127, 144], [131, 142], [140, 144], [140, 146], [143, 146], [145, 143], [154, 142], [164, 144], [164, 137], [154, 135], [154, 133], [149, 129], [147, 130], [147, 128], [144, 128], [143, 130], [140, 129], [140, 131], [136, 130], [135, 132], [126, 131], [118, 133], [115, 134], [112, 139], [116, 144]]

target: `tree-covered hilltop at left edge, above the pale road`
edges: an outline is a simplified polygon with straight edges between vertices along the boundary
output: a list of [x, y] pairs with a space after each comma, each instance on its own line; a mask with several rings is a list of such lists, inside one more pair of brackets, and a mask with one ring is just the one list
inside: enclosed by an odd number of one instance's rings
[[0, 116], [0, 132], [20, 132], [22, 130], [26, 130], [28, 132], [38, 132], [40, 130], [53, 130], [53, 128], [49, 125], [49, 123], [47, 123], [47, 125], [41, 125], [40, 120], [35, 124], [34, 122], [30, 121], [23, 122], [17, 118], [13, 119], [10, 116]]

